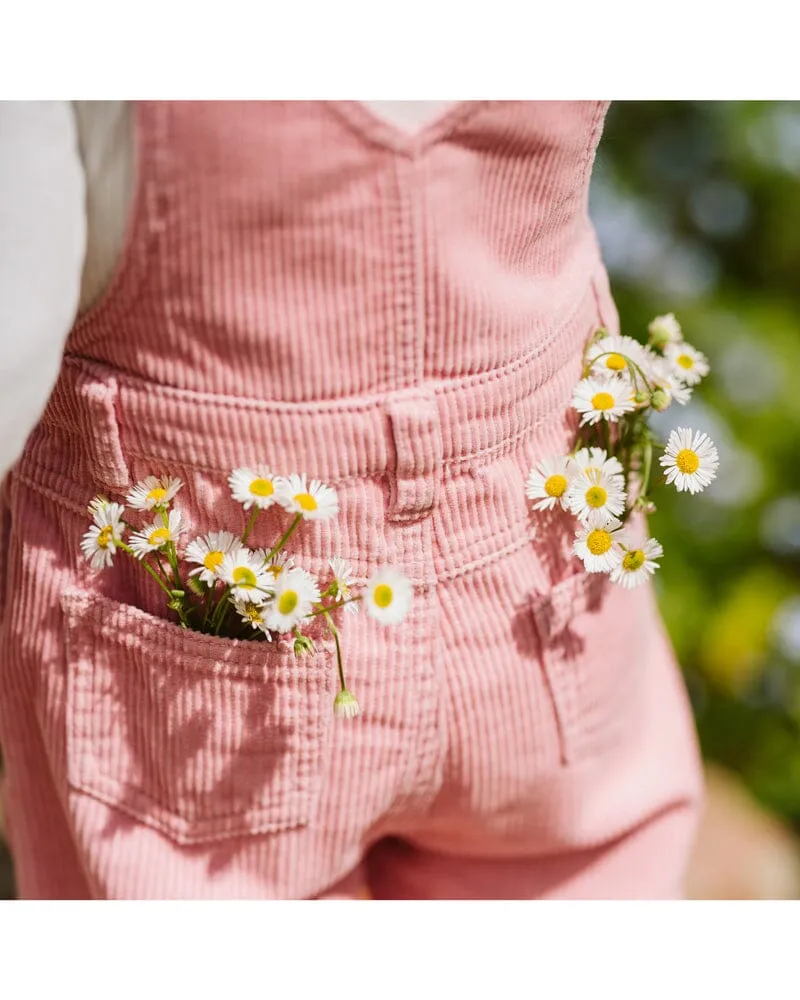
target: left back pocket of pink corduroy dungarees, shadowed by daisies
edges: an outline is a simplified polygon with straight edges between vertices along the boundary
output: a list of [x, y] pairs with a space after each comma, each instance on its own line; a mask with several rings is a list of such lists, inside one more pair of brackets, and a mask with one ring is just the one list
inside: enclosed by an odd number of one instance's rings
[[311, 820], [333, 718], [329, 645], [296, 658], [94, 593], [62, 605], [72, 788], [181, 844]]

